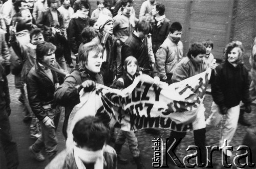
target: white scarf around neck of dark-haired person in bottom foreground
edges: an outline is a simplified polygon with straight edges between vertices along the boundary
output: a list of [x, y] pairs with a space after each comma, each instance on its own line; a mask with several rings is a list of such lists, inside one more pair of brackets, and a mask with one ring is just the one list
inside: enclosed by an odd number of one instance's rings
[[80, 149], [74, 146], [74, 157], [76, 165], [79, 169], [86, 169], [83, 162], [86, 163], [94, 163], [94, 168], [103, 169], [104, 167], [104, 156], [103, 150], [105, 146], [101, 150], [98, 151], [88, 151], [84, 149]]

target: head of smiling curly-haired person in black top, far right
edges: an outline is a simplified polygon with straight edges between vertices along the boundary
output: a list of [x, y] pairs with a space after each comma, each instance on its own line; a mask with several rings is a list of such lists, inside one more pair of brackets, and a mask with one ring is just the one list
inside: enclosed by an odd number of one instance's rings
[[224, 59], [231, 64], [241, 64], [243, 62], [244, 47], [240, 41], [228, 43], [224, 50]]

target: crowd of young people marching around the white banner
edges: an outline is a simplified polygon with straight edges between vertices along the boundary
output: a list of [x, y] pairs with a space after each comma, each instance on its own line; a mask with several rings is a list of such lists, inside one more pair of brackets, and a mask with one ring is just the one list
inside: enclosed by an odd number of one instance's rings
[[[254, 82], [250, 84], [243, 65], [244, 48], [240, 41], [228, 43], [223, 63], [217, 66], [211, 53], [211, 40], [193, 42], [184, 54], [182, 25], [165, 16], [165, 6], [146, 0], [135, 13], [133, 0], [98, 0], [91, 13], [89, 0], [8, 0], [0, 11], [0, 141], [6, 155], [7, 168], [18, 167], [16, 143], [10, 133], [10, 96], [7, 75], [12, 73], [15, 87], [20, 89], [24, 122], [30, 123], [30, 136], [36, 139], [28, 149], [38, 161], [46, 160], [47, 168], [117, 168], [127, 163], [121, 156], [125, 139], [137, 168], [145, 168], [134, 131], [121, 127], [111, 138], [109, 121], [88, 116], [73, 129], [73, 150], [57, 154], [56, 129], [61, 113], [65, 114], [62, 132], [67, 139], [68, 120], [79, 100], [80, 90], [90, 92], [96, 83], [124, 89], [143, 74], [154, 84], [180, 82], [212, 69], [210, 79], [214, 102], [208, 119], [193, 123], [195, 145], [202, 150], [206, 163], [206, 131], [227, 116], [220, 145], [230, 144], [238, 122], [249, 126], [243, 113], [251, 111]], [[253, 45], [256, 45], [255, 43]], [[223, 46], [224, 47], [224, 46]], [[10, 48], [16, 56], [10, 55]], [[251, 64], [256, 62], [252, 52]], [[76, 58], [75, 64], [72, 57]], [[11, 59], [12, 58], [12, 59]], [[68, 67], [72, 68], [69, 71]], [[252, 80], [255, 79], [252, 66]], [[254, 98], [253, 98], [254, 99]], [[240, 113], [240, 102], [243, 109]], [[198, 117], [204, 116], [201, 104]], [[151, 129], [147, 132], [158, 133]], [[184, 138], [185, 132], [171, 131], [168, 146]], [[108, 145], [114, 139], [113, 148]], [[231, 152], [223, 150], [231, 156]], [[175, 162], [175, 161], [174, 161]]]

